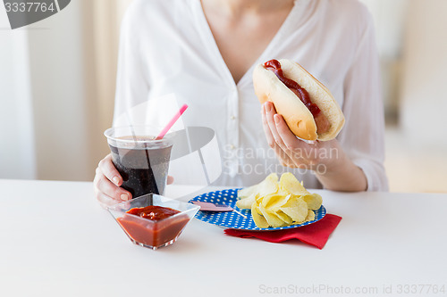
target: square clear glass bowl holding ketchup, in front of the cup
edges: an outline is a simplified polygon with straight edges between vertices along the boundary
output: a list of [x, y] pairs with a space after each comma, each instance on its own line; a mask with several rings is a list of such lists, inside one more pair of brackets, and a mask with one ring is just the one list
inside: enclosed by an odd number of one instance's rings
[[[143, 219], [126, 212], [133, 208], [142, 208], [149, 205], [168, 207], [180, 212], [159, 220]], [[146, 194], [108, 208], [132, 243], [152, 250], [175, 243], [181, 235], [181, 231], [194, 218], [199, 209], [200, 207], [197, 205], [180, 202], [158, 194]]]

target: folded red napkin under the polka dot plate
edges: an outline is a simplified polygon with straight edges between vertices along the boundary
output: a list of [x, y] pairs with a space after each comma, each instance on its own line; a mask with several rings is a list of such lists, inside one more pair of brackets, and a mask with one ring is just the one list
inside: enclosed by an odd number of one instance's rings
[[320, 219], [316, 223], [277, 231], [247, 231], [238, 229], [225, 229], [223, 232], [226, 235], [232, 235], [242, 238], [256, 237], [270, 243], [282, 243], [290, 239], [298, 239], [303, 243], [316, 246], [318, 249], [323, 249], [329, 235], [333, 233], [335, 227], [338, 226], [342, 217], [329, 214], [325, 218]]

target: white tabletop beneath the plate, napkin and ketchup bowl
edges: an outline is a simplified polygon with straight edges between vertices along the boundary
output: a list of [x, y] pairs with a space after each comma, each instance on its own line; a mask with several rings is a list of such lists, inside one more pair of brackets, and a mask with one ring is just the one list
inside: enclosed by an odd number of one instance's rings
[[447, 194], [318, 191], [343, 218], [321, 251], [227, 236], [197, 219], [151, 251], [99, 207], [91, 183], [0, 180], [0, 189], [0, 296], [447, 293], [428, 286], [447, 290]]

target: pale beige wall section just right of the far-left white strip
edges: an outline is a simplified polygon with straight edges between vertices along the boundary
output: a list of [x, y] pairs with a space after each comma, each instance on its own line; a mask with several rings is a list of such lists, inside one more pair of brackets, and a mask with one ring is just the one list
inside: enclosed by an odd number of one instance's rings
[[90, 119], [80, 2], [34, 26], [44, 28], [28, 30], [38, 177], [81, 179]]

